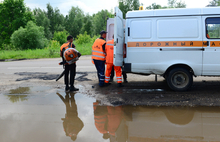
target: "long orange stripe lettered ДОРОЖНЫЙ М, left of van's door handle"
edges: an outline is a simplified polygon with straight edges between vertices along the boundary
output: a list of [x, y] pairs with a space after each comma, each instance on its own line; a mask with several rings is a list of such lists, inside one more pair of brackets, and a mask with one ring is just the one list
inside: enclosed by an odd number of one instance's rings
[[128, 42], [127, 47], [207, 47], [207, 41]]

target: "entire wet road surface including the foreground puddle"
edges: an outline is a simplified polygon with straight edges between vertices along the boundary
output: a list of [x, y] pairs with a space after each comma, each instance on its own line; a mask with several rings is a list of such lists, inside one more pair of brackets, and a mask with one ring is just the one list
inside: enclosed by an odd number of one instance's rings
[[124, 87], [100, 88], [90, 59], [77, 61], [77, 92], [55, 81], [60, 59], [0, 62], [0, 141], [220, 141], [220, 78], [174, 92], [163, 77], [128, 74]]

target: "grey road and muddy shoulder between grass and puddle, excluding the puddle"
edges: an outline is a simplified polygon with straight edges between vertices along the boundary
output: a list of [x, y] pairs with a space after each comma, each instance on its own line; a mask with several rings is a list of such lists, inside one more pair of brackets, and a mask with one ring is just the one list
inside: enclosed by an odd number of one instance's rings
[[[55, 79], [63, 71], [59, 58], [0, 62], [0, 92], [9, 93], [19, 87], [43, 87], [64, 91], [63, 78]], [[197, 77], [191, 90], [171, 91], [163, 77], [127, 74], [128, 83], [118, 88], [116, 77], [110, 86], [100, 88], [91, 56], [77, 61], [75, 86], [79, 93], [107, 105], [146, 106], [220, 106], [220, 77]]]

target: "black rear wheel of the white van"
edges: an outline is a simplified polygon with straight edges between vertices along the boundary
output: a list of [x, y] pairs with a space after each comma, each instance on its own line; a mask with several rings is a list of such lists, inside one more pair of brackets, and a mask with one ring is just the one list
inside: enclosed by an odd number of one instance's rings
[[174, 68], [168, 73], [166, 81], [172, 90], [186, 91], [191, 88], [193, 77], [185, 68]]

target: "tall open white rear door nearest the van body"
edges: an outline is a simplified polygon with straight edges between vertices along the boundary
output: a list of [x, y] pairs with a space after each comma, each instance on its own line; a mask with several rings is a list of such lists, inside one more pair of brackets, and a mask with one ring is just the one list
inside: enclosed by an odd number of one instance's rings
[[115, 7], [114, 18], [114, 65], [123, 64], [123, 46], [124, 46], [124, 24], [123, 14], [118, 7]]

